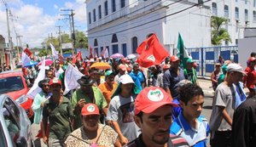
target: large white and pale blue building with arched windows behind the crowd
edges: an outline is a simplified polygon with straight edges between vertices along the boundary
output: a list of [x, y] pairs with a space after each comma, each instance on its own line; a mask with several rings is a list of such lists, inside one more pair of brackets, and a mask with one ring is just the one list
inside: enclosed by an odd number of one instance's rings
[[188, 48], [211, 46], [212, 14], [230, 19], [229, 45], [243, 36], [245, 26], [255, 25], [255, 0], [204, 1], [198, 5], [197, 0], [86, 0], [89, 44], [98, 54], [107, 47], [109, 54], [126, 55], [136, 53], [137, 46], [155, 33], [172, 54], [178, 32]]

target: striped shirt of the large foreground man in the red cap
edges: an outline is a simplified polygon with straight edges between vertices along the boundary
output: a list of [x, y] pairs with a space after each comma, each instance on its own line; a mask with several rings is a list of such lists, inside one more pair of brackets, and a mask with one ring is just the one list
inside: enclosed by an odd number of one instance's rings
[[[124, 147], [147, 147], [143, 142], [143, 135], [131, 141], [129, 144]], [[167, 142], [167, 147], [189, 147], [187, 141], [179, 136], [170, 134], [170, 139]]]

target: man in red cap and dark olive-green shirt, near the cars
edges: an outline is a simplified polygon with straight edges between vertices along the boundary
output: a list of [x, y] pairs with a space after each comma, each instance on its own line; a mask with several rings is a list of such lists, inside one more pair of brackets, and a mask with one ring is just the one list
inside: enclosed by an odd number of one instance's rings
[[[70, 101], [63, 96], [61, 81], [53, 78], [49, 81], [52, 96], [45, 101], [43, 109], [42, 134], [44, 144], [64, 146], [64, 141], [72, 132], [73, 108]], [[46, 136], [47, 123], [49, 122], [49, 139]]]

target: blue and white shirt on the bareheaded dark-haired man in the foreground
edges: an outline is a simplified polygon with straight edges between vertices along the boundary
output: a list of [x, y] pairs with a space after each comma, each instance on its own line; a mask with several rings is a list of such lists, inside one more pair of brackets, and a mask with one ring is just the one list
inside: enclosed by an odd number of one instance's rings
[[209, 133], [209, 125], [204, 116], [197, 118], [197, 128], [191, 128], [189, 123], [180, 113], [172, 122], [171, 133], [186, 139], [190, 146], [207, 147], [207, 136]]

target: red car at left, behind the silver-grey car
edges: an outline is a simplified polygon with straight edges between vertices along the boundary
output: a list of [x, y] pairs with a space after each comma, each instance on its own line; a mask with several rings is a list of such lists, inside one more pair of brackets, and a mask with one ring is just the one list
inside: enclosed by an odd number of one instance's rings
[[22, 71], [3, 71], [0, 73], [0, 94], [9, 95], [24, 110], [26, 115], [31, 118], [33, 111], [31, 109], [32, 99], [26, 97], [29, 88], [26, 84], [26, 77]]

